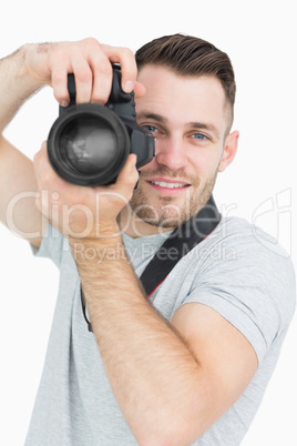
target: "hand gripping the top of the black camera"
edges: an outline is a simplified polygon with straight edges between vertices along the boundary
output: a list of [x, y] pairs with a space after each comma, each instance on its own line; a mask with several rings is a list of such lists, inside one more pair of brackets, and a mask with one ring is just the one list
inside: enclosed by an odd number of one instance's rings
[[57, 42], [27, 45], [25, 69], [39, 83], [53, 88], [58, 102], [69, 103], [68, 73], [74, 73], [76, 103], [104, 104], [112, 85], [112, 65], [122, 69], [122, 89], [136, 97], [144, 94], [144, 87], [136, 82], [137, 68], [134, 55], [126, 48], [110, 47], [89, 38], [78, 42]]

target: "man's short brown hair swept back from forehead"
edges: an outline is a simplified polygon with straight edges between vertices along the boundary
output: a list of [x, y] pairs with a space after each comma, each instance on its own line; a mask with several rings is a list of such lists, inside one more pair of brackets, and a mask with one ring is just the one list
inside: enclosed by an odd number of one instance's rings
[[236, 83], [228, 55], [206, 40], [172, 34], [154, 39], [135, 53], [139, 70], [144, 65], [163, 65], [180, 75], [217, 78], [231, 105], [231, 124], [233, 122]]

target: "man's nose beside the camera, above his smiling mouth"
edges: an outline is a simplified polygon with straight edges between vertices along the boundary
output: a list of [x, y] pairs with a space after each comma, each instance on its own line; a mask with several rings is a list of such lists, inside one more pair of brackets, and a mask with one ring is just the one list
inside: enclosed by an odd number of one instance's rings
[[156, 140], [155, 161], [172, 171], [184, 169], [187, 165], [187, 158], [183, 140], [175, 136]]

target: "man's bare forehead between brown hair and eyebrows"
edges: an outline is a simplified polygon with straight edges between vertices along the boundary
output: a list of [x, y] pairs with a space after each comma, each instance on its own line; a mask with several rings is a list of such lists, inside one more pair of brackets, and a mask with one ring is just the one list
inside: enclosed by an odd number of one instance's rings
[[205, 122], [225, 132], [226, 98], [221, 82], [214, 77], [183, 77], [158, 65], [145, 65], [139, 81], [146, 94], [136, 100], [136, 111], [166, 116], [174, 125]]

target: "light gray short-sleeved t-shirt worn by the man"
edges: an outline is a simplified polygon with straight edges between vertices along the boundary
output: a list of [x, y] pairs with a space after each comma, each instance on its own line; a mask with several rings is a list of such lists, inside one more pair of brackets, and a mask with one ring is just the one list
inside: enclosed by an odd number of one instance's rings
[[[139, 276], [165, 236], [131, 239], [123, 234]], [[86, 328], [80, 280], [66, 240], [49, 226], [39, 255], [51, 257], [61, 275], [25, 445], [136, 445], [111, 391], [94, 336]], [[151, 300], [168, 321], [185, 303], [208, 305], [253, 345], [259, 367], [252, 383], [194, 443], [238, 446], [262, 402], [294, 314], [290, 259], [259, 229], [237, 217], [223, 217], [215, 231], [177, 263]]]

